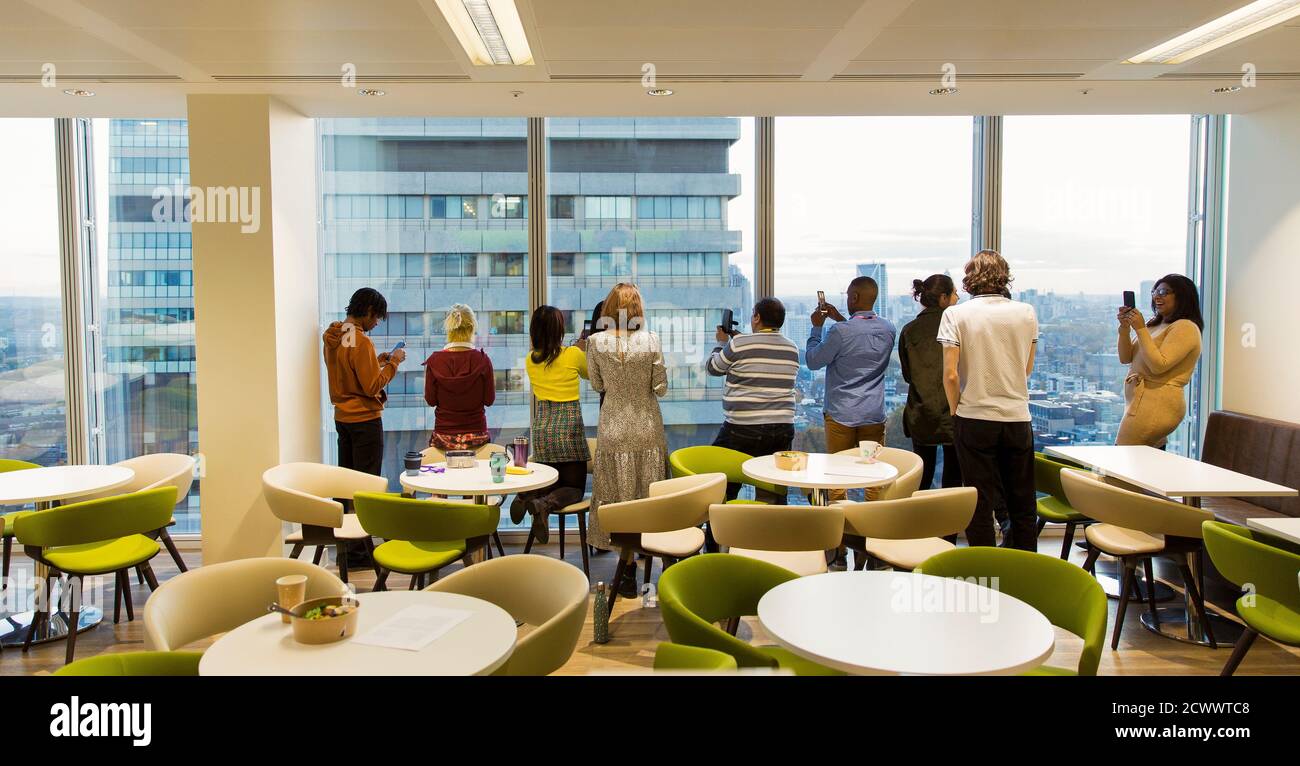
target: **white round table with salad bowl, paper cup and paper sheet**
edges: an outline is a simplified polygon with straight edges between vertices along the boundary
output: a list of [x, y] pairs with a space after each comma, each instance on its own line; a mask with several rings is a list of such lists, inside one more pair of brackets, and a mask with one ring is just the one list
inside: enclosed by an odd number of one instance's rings
[[[199, 675], [488, 675], [515, 650], [515, 620], [499, 606], [459, 593], [361, 593], [356, 635], [334, 644], [299, 644], [292, 626], [268, 613], [244, 623], [203, 653]], [[438, 606], [469, 616], [419, 652], [358, 642], [368, 629], [408, 606]]]

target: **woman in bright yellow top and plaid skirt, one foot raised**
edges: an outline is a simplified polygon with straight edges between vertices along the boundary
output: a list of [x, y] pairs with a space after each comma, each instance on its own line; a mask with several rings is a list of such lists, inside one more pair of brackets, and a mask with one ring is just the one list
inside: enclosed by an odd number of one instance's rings
[[524, 514], [533, 515], [533, 536], [550, 540], [547, 515], [582, 499], [586, 490], [586, 428], [578, 402], [578, 378], [586, 377], [586, 352], [578, 346], [564, 347], [564, 315], [554, 306], [533, 312], [528, 334], [533, 349], [524, 360], [537, 407], [533, 410], [533, 460], [559, 472], [551, 486], [520, 493], [510, 506], [516, 524]]

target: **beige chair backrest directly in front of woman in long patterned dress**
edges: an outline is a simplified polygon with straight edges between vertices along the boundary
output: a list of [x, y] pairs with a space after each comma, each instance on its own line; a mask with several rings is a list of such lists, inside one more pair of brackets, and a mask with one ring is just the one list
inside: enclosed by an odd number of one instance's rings
[[725, 473], [697, 473], [664, 479], [650, 485], [650, 497], [603, 503], [601, 528], [606, 532], [675, 532], [698, 527], [708, 506], [727, 499]]

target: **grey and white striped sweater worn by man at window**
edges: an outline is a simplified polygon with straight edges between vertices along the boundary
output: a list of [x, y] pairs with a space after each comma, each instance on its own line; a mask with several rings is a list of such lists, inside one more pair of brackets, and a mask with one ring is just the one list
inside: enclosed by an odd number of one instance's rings
[[727, 423], [794, 423], [800, 350], [777, 332], [736, 336], [708, 358], [708, 375], [727, 376]]

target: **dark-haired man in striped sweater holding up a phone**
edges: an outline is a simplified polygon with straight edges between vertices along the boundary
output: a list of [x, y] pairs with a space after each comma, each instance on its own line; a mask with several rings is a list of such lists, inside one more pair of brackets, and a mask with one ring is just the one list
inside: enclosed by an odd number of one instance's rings
[[[781, 336], [785, 307], [776, 298], [754, 304], [750, 334], [732, 334], [718, 328], [722, 343], [708, 356], [708, 375], [727, 376], [723, 389], [725, 421], [718, 429], [714, 446], [748, 455], [771, 455], [790, 449], [794, 441], [794, 377], [800, 372], [800, 350]], [[738, 484], [727, 485], [733, 499]], [[766, 493], [763, 493], [766, 494]], [[784, 503], [785, 498], [759, 498]]]

